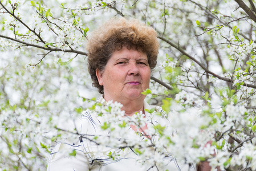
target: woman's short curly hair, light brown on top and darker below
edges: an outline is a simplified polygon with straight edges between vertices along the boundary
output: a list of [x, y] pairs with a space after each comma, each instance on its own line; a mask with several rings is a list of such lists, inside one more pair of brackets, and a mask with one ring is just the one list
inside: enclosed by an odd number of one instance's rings
[[123, 47], [144, 52], [148, 56], [149, 67], [156, 67], [159, 50], [156, 31], [137, 19], [113, 18], [92, 32], [87, 43], [88, 71], [92, 85], [100, 93], [104, 91], [97, 80], [96, 70], [103, 71], [112, 53]]

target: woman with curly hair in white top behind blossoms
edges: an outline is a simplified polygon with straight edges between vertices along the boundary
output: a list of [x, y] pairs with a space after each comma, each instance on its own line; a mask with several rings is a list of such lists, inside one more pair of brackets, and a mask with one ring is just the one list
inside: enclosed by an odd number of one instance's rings
[[[137, 20], [112, 19], [94, 31], [88, 40], [88, 70], [93, 85], [102, 94], [98, 101], [117, 101], [126, 116], [136, 112], [149, 115], [147, 110], [160, 107], [148, 105], [143, 92], [149, 88], [151, 70], [156, 66], [159, 43], [156, 31]], [[100, 121], [93, 112], [86, 111], [78, 121], [78, 129], [87, 135], [99, 132]], [[150, 124], [150, 123], [149, 123]], [[145, 125], [140, 131], [150, 127]], [[133, 130], [136, 126], [131, 125]], [[131, 130], [132, 130], [131, 129]], [[150, 138], [150, 137], [148, 137]], [[64, 149], [75, 149], [76, 155], [68, 156]], [[119, 160], [112, 160], [101, 153], [99, 147], [81, 136], [73, 142], [59, 141], [51, 152], [47, 170], [157, 170], [136, 162], [136, 154]], [[169, 163], [169, 161], [168, 161]], [[166, 165], [169, 170], [188, 170], [188, 166], [178, 166], [177, 162]], [[194, 170], [194, 168], [190, 168]]]

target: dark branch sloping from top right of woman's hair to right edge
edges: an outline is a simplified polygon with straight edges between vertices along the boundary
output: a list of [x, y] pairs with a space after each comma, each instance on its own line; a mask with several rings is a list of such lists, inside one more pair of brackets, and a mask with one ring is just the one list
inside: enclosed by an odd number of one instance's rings
[[[189, 55], [188, 53], [186, 53], [184, 50], [182, 50], [182, 48], [178, 47], [176, 44], [170, 42], [169, 40], [167, 40], [167, 39], [165, 39], [165, 38], [163, 38], [163, 37], [161, 37], [161, 36], [157, 36], [157, 38], [159, 38], [159, 39], [161, 39], [161, 40], [164, 40], [164, 42], [170, 44], [170, 46], [176, 48], [176, 49], [177, 49], [178, 51], [180, 51], [183, 55], [187, 56], [189, 59], [191, 59], [191, 60], [193, 60], [194, 62], [196, 62], [203, 70], [205, 70], [205, 72], [207, 72], [207, 73], [209, 73], [209, 74], [215, 76], [215, 77], [218, 78], [218, 79], [224, 80], [224, 81], [226, 81], [226, 82], [233, 83], [233, 81], [232, 81], [231, 79], [225, 78], [225, 77], [220, 76], [220, 75], [217, 75], [217, 74], [215, 74], [214, 72], [208, 70], [208, 69], [204, 66], [204, 64], [200, 63], [197, 59], [195, 59], [193, 56], [191, 56], [191, 55]], [[253, 85], [253, 84], [243, 84], [243, 86], [251, 87], [251, 88], [256, 88], [256, 86]]]

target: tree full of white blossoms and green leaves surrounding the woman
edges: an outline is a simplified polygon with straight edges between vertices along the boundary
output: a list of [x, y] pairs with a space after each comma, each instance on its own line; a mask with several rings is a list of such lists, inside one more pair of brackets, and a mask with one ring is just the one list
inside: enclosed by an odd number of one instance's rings
[[[168, 113], [169, 123], [147, 132], [157, 141], [127, 141], [125, 126], [143, 127], [144, 117], [122, 117], [120, 104], [95, 101], [84, 46], [113, 17], [137, 18], [157, 31], [158, 66], [144, 92]], [[132, 146], [149, 168], [161, 170], [162, 159], [173, 156], [256, 169], [254, 1], [1, 0], [0, 18], [0, 170], [45, 170], [51, 141], [79, 135], [73, 120], [86, 109], [109, 131], [92, 141]]]

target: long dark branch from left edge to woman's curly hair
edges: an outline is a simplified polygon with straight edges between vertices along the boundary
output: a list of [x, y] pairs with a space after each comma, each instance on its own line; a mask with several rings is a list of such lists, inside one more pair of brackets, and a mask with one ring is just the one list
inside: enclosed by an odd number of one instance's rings
[[31, 47], [41, 48], [41, 49], [47, 50], [47, 51], [62, 51], [62, 52], [75, 53], [75, 54], [87, 56], [87, 53], [86, 53], [86, 52], [82, 52], [82, 51], [77, 51], [77, 50], [62, 50], [61, 48], [51, 48], [51, 47], [39, 46], [39, 45], [36, 45], [36, 44], [26, 43], [26, 42], [23, 42], [23, 41], [18, 40], [18, 39], [10, 38], [9, 36], [4, 36], [4, 35], [1, 35], [1, 34], [0, 34], [0, 37], [1, 37], [1, 38], [5, 38], [5, 39], [9, 39], [9, 40], [13, 40], [14, 42], [22, 43], [22, 44], [24, 44], [25, 46], [31, 46]]

